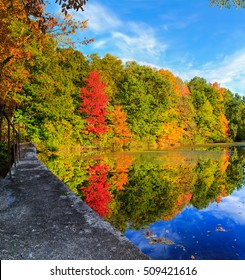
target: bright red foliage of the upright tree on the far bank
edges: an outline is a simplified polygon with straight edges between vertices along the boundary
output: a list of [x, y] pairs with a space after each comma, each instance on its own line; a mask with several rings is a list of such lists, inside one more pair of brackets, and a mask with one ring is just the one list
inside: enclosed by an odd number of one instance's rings
[[87, 130], [100, 135], [107, 131], [105, 109], [109, 98], [105, 93], [105, 83], [102, 83], [97, 71], [92, 71], [85, 79], [85, 87], [81, 89], [80, 113], [85, 113], [88, 122]]

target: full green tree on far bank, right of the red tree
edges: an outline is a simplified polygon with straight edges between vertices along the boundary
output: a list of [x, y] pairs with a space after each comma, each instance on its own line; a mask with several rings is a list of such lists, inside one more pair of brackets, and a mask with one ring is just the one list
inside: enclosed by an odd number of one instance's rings
[[127, 113], [136, 143], [155, 143], [171, 94], [168, 87], [156, 70], [135, 62], [127, 64], [116, 98]]

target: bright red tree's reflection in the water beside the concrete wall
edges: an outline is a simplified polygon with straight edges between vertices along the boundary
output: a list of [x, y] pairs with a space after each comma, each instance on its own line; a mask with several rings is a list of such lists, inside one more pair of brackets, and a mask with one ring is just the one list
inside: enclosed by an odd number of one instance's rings
[[97, 164], [89, 169], [89, 185], [82, 187], [85, 202], [101, 217], [110, 214], [109, 202], [111, 194], [107, 183], [108, 166]]

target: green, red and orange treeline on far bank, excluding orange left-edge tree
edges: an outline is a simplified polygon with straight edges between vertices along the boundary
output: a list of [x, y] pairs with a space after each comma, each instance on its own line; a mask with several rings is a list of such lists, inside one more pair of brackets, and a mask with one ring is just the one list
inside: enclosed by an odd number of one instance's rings
[[49, 151], [165, 148], [245, 138], [245, 102], [238, 94], [195, 77], [107, 54], [85, 58], [49, 49], [29, 65], [15, 120], [26, 138]]

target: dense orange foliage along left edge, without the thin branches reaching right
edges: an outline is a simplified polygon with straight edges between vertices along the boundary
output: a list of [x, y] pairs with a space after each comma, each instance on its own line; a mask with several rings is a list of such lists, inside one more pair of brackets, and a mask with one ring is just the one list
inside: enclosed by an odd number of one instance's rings
[[40, 30], [37, 33], [33, 29], [34, 21], [28, 18], [37, 8], [29, 5], [32, 2], [26, 1], [24, 7], [19, 0], [0, 0], [0, 97], [4, 103], [18, 102], [15, 96], [8, 97], [8, 93], [21, 91], [29, 74], [25, 69], [25, 60], [31, 58], [27, 46], [32, 44], [37, 34], [40, 36]]

